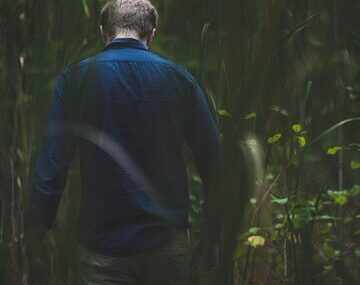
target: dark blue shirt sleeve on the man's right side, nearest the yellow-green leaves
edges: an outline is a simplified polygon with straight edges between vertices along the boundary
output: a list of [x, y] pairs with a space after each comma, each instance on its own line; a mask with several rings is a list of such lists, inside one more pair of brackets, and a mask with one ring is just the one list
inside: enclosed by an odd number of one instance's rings
[[199, 84], [193, 77], [190, 77], [190, 82], [191, 97], [184, 134], [206, 194], [219, 165], [220, 132]]

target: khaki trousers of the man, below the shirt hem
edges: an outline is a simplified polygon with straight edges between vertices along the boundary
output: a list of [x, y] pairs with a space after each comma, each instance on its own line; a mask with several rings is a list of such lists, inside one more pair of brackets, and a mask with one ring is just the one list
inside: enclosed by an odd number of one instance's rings
[[189, 285], [191, 246], [182, 230], [164, 245], [127, 257], [79, 246], [81, 285]]

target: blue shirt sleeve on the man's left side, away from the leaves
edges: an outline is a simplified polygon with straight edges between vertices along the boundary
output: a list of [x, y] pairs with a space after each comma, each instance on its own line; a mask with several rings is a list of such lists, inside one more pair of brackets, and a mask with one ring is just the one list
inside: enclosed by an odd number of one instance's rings
[[65, 187], [76, 149], [69, 132], [69, 85], [64, 73], [58, 77], [48, 114], [46, 134], [37, 157], [30, 186], [28, 224], [50, 228]]

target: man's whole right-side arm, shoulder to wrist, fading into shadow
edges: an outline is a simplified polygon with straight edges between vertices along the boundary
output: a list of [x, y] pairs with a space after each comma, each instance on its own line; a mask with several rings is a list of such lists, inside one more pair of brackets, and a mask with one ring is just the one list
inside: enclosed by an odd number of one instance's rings
[[185, 140], [195, 158], [205, 192], [202, 242], [216, 244], [221, 226], [219, 189], [220, 133], [209, 104], [198, 83], [191, 77], [192, 102], [187, 118]]

